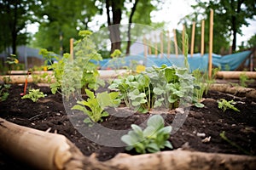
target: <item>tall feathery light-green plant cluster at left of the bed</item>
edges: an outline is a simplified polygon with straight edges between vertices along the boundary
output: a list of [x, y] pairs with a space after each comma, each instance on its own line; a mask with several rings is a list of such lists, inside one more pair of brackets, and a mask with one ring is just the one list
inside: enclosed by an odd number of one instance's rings
[[64, 54], [63, 57], [58, 57], [46, 49], [41, 50], [44, 58], [51, 62], [55, 59], [56, 62], [49, 65], [49, 69], [54, 72], [55, 82], [50, 85], [51, 91], [55, 94], [61, 89], [67, 99], [71, 94], [78, 92], [81, 88], [97, 89], [104, 82], [99, 79], [97, 65], [91, 61], [101, 60], [101, 54], [96, 51], [94, 42], [90, 40], [90, 31], [79, 31], [79, 36], [82, 39], [74, 44], [74, 59], [70, 54]]

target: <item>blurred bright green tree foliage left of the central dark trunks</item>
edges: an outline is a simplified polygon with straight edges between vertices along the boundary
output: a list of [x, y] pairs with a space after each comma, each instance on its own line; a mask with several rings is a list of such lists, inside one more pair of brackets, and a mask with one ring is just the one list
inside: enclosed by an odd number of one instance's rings
[[[100, 13], [94, 0], [86, 0], [86, 3], [83, 0], [41, 2], [40, 10], [35, 11], [40, 26], [32, 45], [47, 48], [55, 54], [68, 53], [70, 38], [79, 39], [78, 31], [90, 29], [88, 23]], [[60, 37], [63, 38], [60, 40]]]

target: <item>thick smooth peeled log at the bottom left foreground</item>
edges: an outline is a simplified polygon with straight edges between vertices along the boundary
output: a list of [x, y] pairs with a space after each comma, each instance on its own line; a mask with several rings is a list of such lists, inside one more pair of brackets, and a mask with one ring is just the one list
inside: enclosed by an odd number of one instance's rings
[[83, 157], [61, 134], [22, 127], [1, 118], [0, 133], [0, 150], [36, 169], [64, 169], [74, 164], [75, 157]]

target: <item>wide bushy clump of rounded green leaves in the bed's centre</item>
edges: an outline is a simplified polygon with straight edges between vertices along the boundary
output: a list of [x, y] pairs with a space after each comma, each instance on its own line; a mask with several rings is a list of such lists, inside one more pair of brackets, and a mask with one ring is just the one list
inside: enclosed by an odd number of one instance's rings
[[172, 110], [191, 103], [203, 106], [193, 98], [194, 80], [186, 68], [162, 65], [114, 79], [108, 88], [119, 90], [120, 99], [124, 99], [128, 107], [145, 113], [157, 107]]

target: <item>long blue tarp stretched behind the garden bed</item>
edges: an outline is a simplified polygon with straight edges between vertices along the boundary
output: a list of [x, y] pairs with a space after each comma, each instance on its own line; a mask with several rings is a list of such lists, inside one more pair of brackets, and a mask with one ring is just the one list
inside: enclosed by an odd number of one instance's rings
[[[251, 54], [251, 51], [244, 51], [224, 56], [212, 54], [212, 65], [220, 67], [222, 71], [234, 71], [245, 59], [247, 59], [249, 54]], [[208, 69], [208, 54], [204, 54], [203, 56], [201, 56], [201, 54], [193, 54], [192, 57], [189, 55], [188, 61], [191, 71], [194, 71], [195, 69], [207, 71]], [[183, 67], [184, 56], [181, 54], [177, 56], [175, 54], [171, 54], [170, 56], [163, 54], [161, 56], [159, 54], [158, 56], [148, 55], [147, 58], [145, 58], [143, 54], [135, 54], [117, 59], [102, 59], [99, 62], [93, 62], [99, 65], [101, 69], [119, 69], [125, 66], [132, 68], [136, 65], [145, 65], [146, 67], [150, 67], [152, 65], [160, 66], [163, 64]]]

